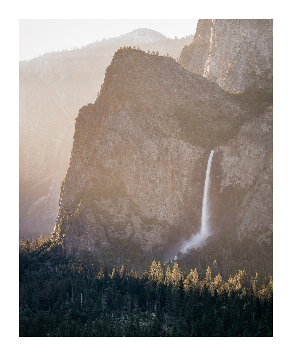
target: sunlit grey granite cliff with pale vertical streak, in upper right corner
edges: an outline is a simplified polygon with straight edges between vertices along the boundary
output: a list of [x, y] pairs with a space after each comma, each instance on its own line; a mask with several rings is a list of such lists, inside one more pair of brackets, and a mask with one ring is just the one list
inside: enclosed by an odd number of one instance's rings
[[272, 77], [272, 20], [199, 20], [180, 63], [231, 93]]

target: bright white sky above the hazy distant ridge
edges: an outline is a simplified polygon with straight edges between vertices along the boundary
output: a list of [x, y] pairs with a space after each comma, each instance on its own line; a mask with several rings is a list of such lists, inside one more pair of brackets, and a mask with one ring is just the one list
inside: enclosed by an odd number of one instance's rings
[[117, 37], [136, 28], [150, 28], [174, 38], [193, 35], [197, 20], [19, 20], [19, 60], [45, 52], [81, 47]]

